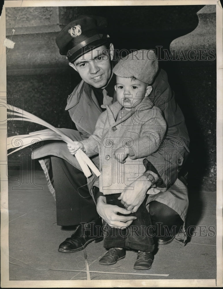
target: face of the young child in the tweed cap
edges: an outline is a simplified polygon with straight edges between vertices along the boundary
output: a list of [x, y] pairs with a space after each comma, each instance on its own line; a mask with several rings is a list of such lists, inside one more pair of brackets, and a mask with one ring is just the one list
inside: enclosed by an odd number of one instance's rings
[[147, 84], [132, 77], [116, 76], [115, 90], [117, 101], [127, 110], [136, 107], [143, 98], [147, 90]]

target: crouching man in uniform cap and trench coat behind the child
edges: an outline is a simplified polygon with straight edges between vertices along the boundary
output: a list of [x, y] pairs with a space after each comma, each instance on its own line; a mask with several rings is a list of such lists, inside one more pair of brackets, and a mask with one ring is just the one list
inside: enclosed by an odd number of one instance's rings
[[[80, 141], [93, 134], [104, 105], [116, 101], [112, 74], [114, 47], [107, 34], [106, 20], [86, 15], [64, 27], [57, 35], [56, 43], [60, 54], [67, 57], [69, 65], [82, 78], [68, 97], [65, 108], [77, 130], [63, 129], [70, 138]], [[102, 219], [111, 227], [128, 227], [134, 218], [128, 216], [129, 211], [137, 211], [145, 198], [159, 244], [171, 242], [181, 226], [185, 229], [188, 192], [181, 168], [189, 152], [188, 132], [165, 71], [158, 72], [152, 86], [150, 98], [162, 110], [168, 129], [158, 151], [145, 158], [146, 173], [132, 184], [131, 193], [123, 194], [122, 203], [126, 209], [106, 204], [105, 197], [95, 186], [96, 177], [86, 179], [66, 143], [52, 141], [35, 150], [34, 158], [39, 159], [56, 199], [57, 225], [76, 226], [72, 236], [59, 245], [58, 251], [77, 252], [90, 242], [101, 241]], [[92, 161], [97, 166], [98, 156]], [[156, 188], [156, 194], [150, 194], [151, 187]], [[125, 251], [106, 255], [105, 262], [114, 264]]]

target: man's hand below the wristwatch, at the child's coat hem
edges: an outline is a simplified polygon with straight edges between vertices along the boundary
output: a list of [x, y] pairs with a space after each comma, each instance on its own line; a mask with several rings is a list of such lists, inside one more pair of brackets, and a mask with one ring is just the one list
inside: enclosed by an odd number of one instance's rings
[[152, 186], [152, 182], [148, 181], [145, 176], [141, 176], [130, 186], [134, 189], [125, 188], [118, 199], [127, 210], [135, 213], [145, 200], [147, 190]]

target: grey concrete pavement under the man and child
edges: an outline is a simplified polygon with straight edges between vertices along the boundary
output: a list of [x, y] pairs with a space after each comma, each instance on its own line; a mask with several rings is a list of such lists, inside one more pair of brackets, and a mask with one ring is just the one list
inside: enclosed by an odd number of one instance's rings
[[[35, 170], [32, 183], [23, 180], [19, 171], [9, 172], [10, 280], [86, 280], [85, 272], [75, 271], [85, 270], [84, 251], [57, 251], [59, 244], [69, 237], [73, 230], [57, 226], [55, 201], [48, 191], [43, 172]], [[150, 270], [133, 269], [137, 257], [134, 251], [127, 251], [126, 257], [114, 265], [100, 265], [98, 260], [106, 253], [103, 243], [89, 244], [85, 249], [89, 270], [104, 272], [90, 273], [91, 280], [215, 279], [215, 214], [216, 192], [191, 190], [189, 224], [195, 226], [192, 227], [194, 236], [189, 238], [184, 247], [177, 241], [159, 245]]]

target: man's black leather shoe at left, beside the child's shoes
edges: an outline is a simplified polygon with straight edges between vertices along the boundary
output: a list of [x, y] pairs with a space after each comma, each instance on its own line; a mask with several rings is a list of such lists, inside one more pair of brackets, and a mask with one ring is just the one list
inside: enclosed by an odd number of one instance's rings
[[78, 225], [70, 238], [59, 245], [59, 252], [73, 253], [83, 250], [89, 243], [103, 240], [102, 219]]

